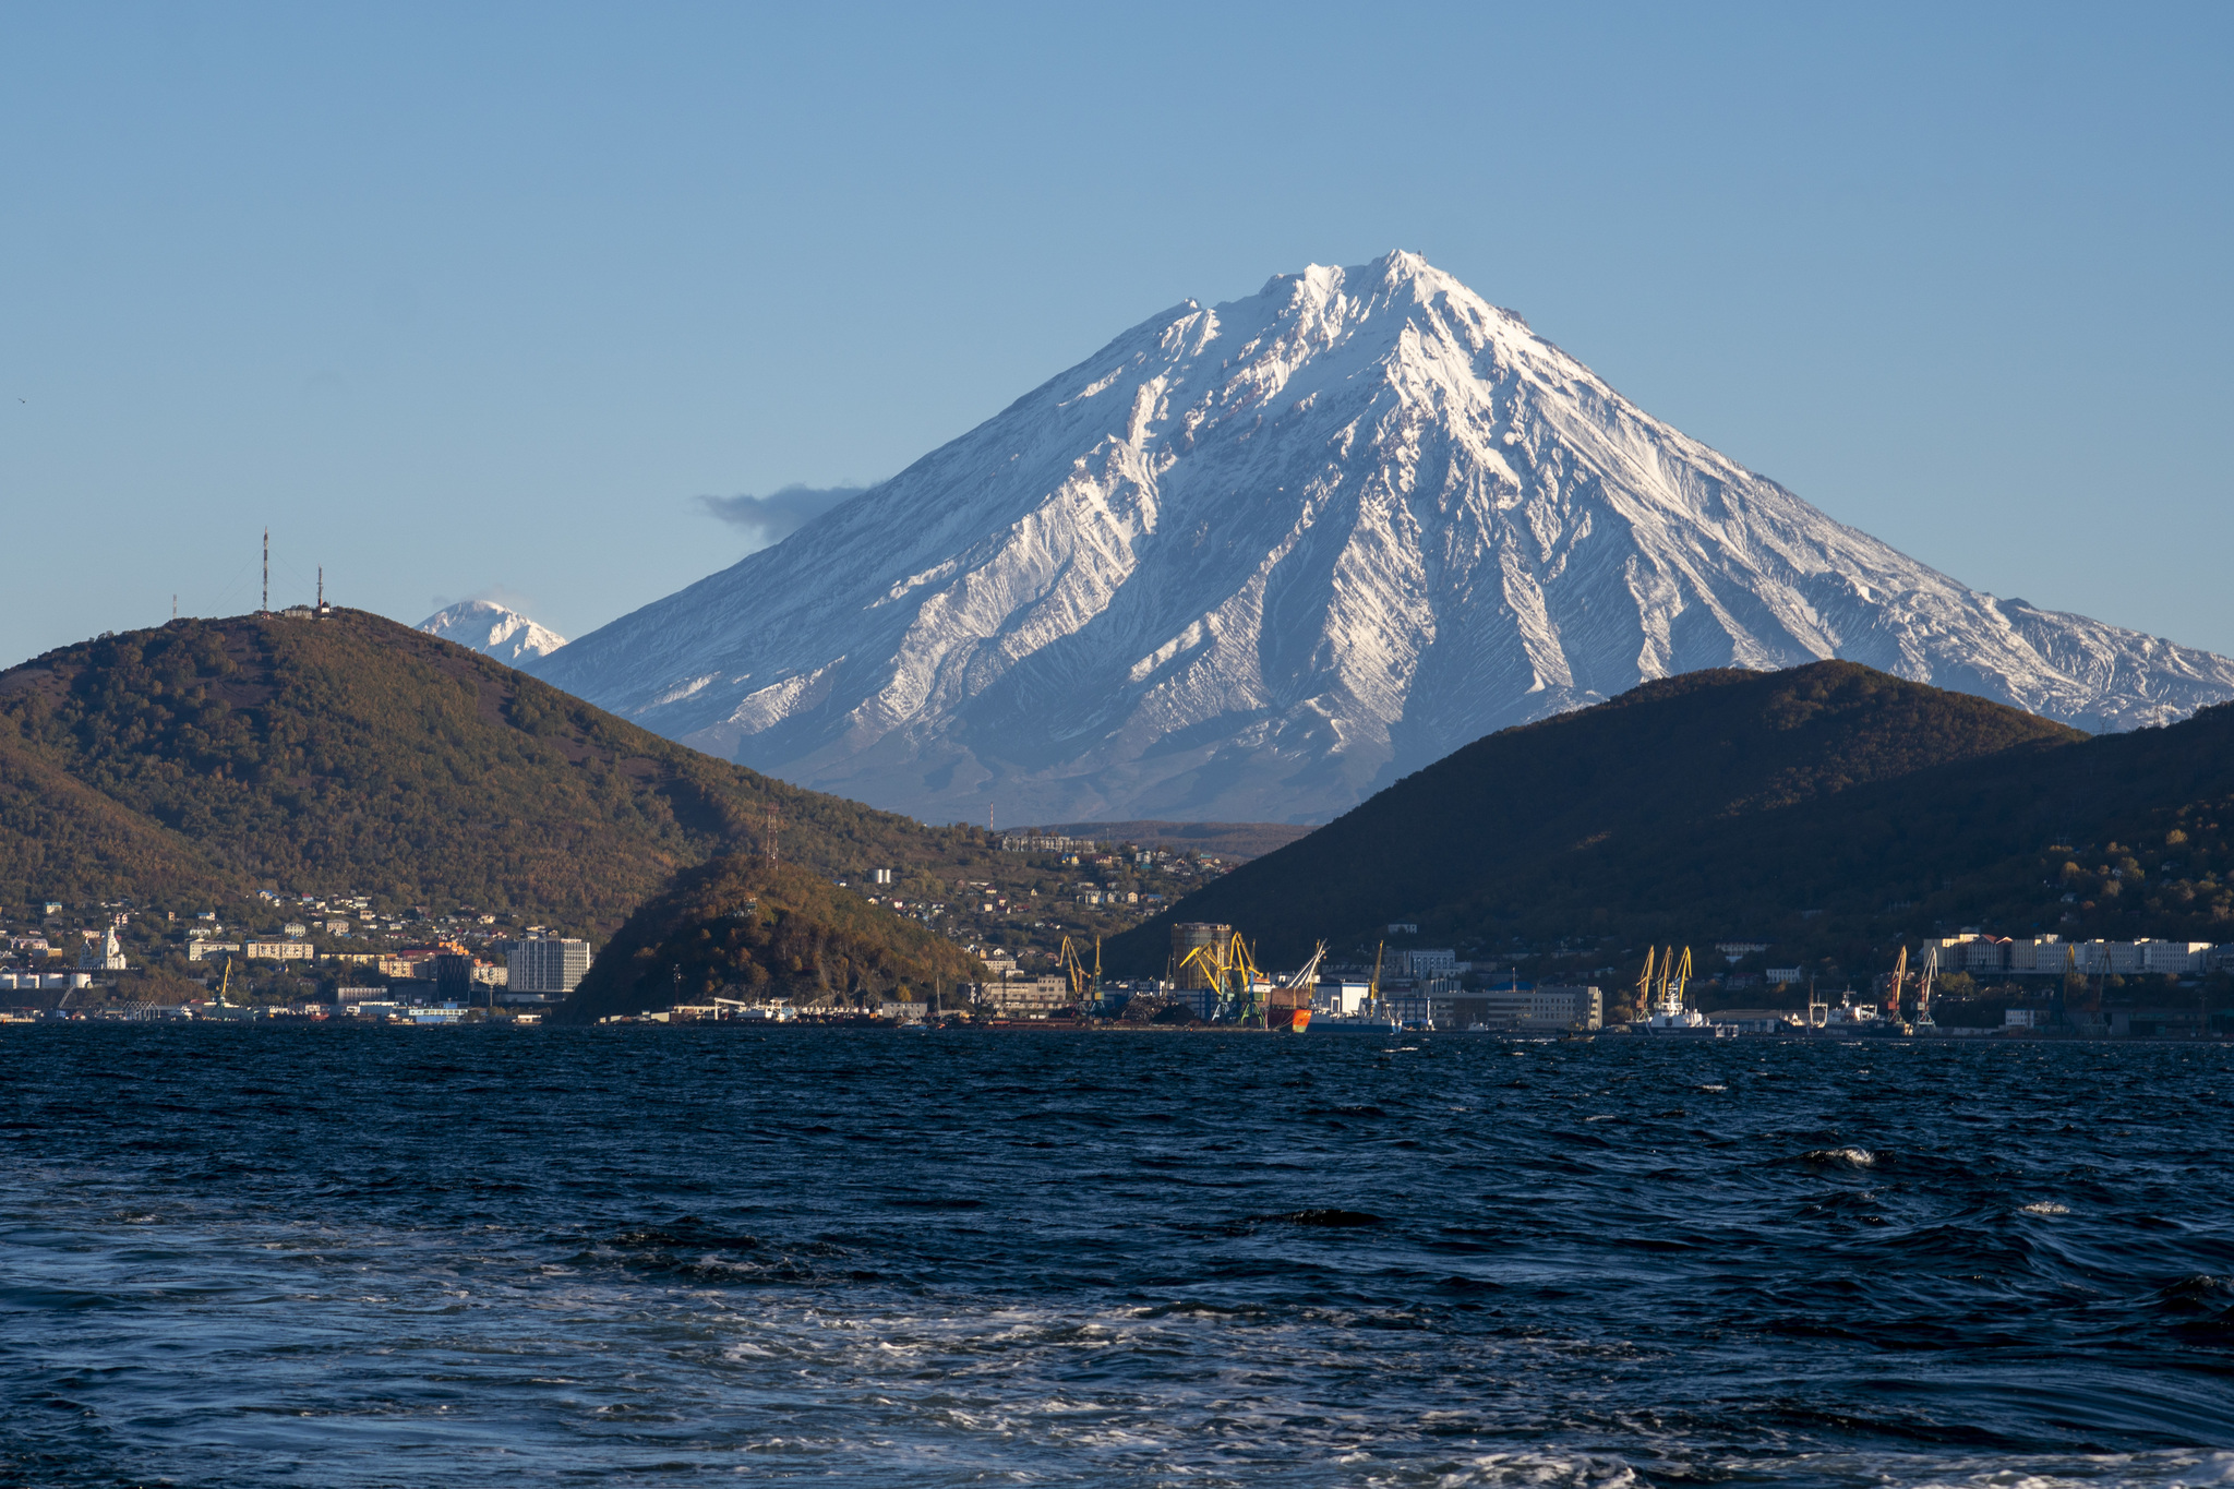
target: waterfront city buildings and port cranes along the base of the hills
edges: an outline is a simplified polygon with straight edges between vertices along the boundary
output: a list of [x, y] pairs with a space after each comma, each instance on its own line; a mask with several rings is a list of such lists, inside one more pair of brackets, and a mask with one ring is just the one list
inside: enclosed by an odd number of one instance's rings
[[[1010, 1027], [1441, 1029], [1535, 1036], [1937, 1034], [2167, 1038], [2234, 1031], [2234, 942], [2064, 940], [1964, 926], [1890, 967], [1780, 958], [1767, 940], [1622, 947], [1428, 944], [1392, 922], [1305, 969], [1260, 969], [1247, 933], [1171, 926], [1162, 978], [1101, 976], [1099, 935], [1142, 924], [1226, 864], [1195, 853], [1019, 833], [1010, 853], [1061, 893], [927, 884], [873, 871], [862, 900], [961, 944], [983, 980], [936, 998], [764, 998], [713, 989], [605, 1022], [976, 1020]], [[938, 895], [938, 897], [932, 897]], [[1054, 949], [1046, 949], [1048, 933]], [[0, 913], [0, 1020], [543, 1020], [588, 976], [588, 933], [516, 911], [281, 893], [210, 906], [65, 904]]]

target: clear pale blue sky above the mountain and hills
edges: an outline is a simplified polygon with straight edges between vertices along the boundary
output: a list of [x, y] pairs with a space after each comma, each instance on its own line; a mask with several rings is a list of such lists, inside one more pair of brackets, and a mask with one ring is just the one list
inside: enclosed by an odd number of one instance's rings
[[1184, 297], [1414, 248], [2004, 596], [2234, 654], [2234, 7], [4, 4], [0, 665], [581, 634]]

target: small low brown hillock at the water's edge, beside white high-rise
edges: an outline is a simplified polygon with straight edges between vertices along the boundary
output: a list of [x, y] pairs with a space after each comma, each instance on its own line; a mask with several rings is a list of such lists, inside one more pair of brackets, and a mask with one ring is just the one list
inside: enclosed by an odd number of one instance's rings
[[630, 915], [554, 1020], [594, 1022], [719, 993], [920, 1000], [981, 976], [954, 942], [829, 880], [733, 855], [681, 871]]

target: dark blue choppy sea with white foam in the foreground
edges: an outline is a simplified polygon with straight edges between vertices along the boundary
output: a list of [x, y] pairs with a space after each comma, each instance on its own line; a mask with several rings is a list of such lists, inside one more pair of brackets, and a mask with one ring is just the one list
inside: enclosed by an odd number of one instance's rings
[[2209, 1045], [9, 1029], [0, 1482], [2230, 1482], [2230, 1096]]

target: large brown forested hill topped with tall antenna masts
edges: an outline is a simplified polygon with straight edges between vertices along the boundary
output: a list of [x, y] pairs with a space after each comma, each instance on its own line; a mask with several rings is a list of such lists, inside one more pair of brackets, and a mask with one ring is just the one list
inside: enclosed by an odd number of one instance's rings
[[929, 828], [623, 723], [364, 612], [172, 621], [0, 672], [0, 900], [373, 893], [605, 933], [688, 864], [994, 877]]

